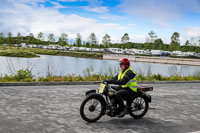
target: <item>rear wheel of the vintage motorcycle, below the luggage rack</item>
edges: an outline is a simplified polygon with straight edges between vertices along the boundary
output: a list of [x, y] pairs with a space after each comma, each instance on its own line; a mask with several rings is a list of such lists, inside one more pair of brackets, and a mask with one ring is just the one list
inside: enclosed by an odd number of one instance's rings
[[142, 95], [137, 95], [129, 102], [128, 112], [134, 119], [142, 118], [149, 109], [147, 99]]

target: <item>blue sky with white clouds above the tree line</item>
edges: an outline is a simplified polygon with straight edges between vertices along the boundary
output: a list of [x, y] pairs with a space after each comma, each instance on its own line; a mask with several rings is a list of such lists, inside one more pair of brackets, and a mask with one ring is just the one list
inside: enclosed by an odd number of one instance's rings
[[174, 32], [186, 40], [200, 37], [200, 0], [0, 0], [0, 32], [16, 35], [39, 32], [83, 40], [94, 32], [99, 42], [107, 33], [120, 42], [128, 33], [144, 43], [154, 31], [164, 43]]

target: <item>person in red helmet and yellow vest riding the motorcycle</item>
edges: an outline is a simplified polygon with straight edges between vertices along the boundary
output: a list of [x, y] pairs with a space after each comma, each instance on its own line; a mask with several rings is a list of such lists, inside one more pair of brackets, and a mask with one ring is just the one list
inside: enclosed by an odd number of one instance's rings
[[130, 61], [127, 58], [120, 59], [119, 65], [121, 68], [119, 73], [114, 78], [106, 79], [104, 82], [119, 85], [114, 101], [119, 104], [120, 114], [118, 117], [121, 118], [127, 112], [123, 100], [127, 100], [128, 97], [137, 92], [137, 81], [136, 73], [130, 67]]

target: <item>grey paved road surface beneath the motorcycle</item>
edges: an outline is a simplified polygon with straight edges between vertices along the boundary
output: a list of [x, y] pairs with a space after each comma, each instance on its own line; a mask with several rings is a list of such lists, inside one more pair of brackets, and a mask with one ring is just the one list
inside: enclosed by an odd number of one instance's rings
[[0, 133], [188, 133], [200, 131], [200, 83], [153, 84], [139, 120], [102, 117], [89, 124], [79, 107], [96, 85], [0, 87]]

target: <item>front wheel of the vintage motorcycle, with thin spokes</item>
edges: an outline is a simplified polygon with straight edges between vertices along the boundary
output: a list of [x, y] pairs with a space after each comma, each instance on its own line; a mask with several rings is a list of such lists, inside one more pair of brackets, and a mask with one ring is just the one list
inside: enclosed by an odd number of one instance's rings
[[98, 95], [87, 97], [80, 106], [80, 115], [87, 122], [96, 122], [106, 110], [103, 97]]

